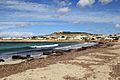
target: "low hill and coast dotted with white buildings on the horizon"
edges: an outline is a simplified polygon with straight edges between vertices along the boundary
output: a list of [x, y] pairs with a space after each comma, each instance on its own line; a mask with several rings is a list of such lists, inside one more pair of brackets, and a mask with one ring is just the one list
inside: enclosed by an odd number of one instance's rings
[[120, 41], [120, 34], [90, 34], [85, 32], [55, 32], [44, 36], [29, 38], [0, 38], [0, 40], [54, 40], [54, 41]]

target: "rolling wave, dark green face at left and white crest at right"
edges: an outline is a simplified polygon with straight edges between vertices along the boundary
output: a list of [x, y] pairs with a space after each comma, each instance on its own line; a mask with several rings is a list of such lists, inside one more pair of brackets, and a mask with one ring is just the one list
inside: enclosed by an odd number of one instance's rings
[[28, 53], [33, 51], [44, 51], [59, 46], [58, 44], [52, 45], [41, 45], [41, 46], [27, 46], [27, 47], [16, 47], [16, 48], [2, 48], [0, 49], [1, 54], [15, 54], [15, 53]]

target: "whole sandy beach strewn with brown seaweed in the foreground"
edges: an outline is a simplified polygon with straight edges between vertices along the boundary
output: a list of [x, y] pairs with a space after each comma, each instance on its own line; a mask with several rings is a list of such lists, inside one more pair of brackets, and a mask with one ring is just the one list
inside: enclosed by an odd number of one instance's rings
[[1, 65], [0, 80], [120, 80], [120, 45]]

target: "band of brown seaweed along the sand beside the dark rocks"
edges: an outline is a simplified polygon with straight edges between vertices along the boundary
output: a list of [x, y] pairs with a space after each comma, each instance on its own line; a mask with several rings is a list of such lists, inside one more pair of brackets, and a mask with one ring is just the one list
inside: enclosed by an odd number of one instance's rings
[[[25, 61], [17, 63], [17, 64], [0, 65], [0, 78], [5, 77], [5, 76], [9, 76], [11, 74], [23, 72], [23, 71], [28, 70], [28, 69], [34, 69], [37, 67], [46, 67], [50, 64], [55, 64], [58, 61], [69, 60], [69, 59], [72, 59], [72, 58], [77, 57], [79, 55], [84, 55], [84, 53], [91, 52], [94, 49], [99, 49], [102, 47], [107, 47], [107, 46], [106, 45], [102, 45], [102, 46], [99, 45], [99, 46], [91, 46], [91, 47], [88, 47], [85, 49], [72, 49], [72, 50], [68, 50], [65, 52], [63, 51], [60, 54], [47, 55], [47, 56], [42, 56], [40, 58], [33, 58], [30, 60], [26, 59]], [[81, 54], [78, 54], [77, 52], [81, 52]], [[37, 63], [34, 64], [35, 62], [37, 62]], [[27, 66], [25, 66], [25, 65], [27, 65]], [[24, 67], [24, 68], [21, 68], [21, 67]], [[17, 70], [12, 71], [12, 69], [14, 69], [14, 68], [17, 68]], [[5, 74], [3, 74], [3, 73], [5, 73]]]

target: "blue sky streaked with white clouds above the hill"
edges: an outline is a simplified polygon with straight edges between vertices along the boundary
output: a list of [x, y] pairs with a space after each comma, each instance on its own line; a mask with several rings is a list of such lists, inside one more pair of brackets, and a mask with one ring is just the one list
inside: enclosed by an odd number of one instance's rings
[[0, 37], [120, 33], [120, 0], [0, 0]]

